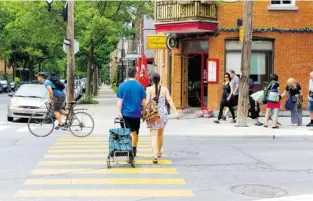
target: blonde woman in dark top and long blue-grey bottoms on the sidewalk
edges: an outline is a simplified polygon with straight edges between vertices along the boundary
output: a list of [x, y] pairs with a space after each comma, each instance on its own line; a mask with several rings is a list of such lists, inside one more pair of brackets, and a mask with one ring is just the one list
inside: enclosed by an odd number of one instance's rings
[[294, 78], [289, 78], [282, 97], [288, 96], [286, 104], [291, 101], [291, 124], [302, 126], [302, 92], [301, 86]]

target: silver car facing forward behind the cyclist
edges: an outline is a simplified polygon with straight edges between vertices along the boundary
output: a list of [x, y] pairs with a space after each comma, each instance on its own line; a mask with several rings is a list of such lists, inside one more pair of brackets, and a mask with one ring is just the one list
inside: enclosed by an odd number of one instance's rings
[[[49, 100], [49, 93], [45, 86], [38, 84], [24, 84], [14, 95], [8, 105], [8, 121], [13, 118], [29, 118], [36, 112], [47, 112], [45, 103]], [[44, 118], [44, 115], [43, 115]]]

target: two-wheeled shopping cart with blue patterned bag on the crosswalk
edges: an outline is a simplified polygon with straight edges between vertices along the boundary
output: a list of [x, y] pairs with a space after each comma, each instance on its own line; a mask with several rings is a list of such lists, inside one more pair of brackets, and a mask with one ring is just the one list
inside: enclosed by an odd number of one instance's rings
[[[123, 125], [122, 128], [115, 128], [116, 124]], [[111, 168], [111, 162], [117, 161], [118, 157], [127, 157], [127, 162], [134, 168], [134, 153], [130, 129], [126, 128], [125, 122], [118, 118], [114, 119], [114, 128], [109, 130], [109, 154], [107, 167]]]

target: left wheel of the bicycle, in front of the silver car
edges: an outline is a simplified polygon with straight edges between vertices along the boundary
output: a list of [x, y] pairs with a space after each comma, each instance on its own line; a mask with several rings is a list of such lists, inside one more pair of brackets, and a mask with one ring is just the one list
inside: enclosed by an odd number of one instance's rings
[[54, 120], [47, 113], [37, 112], [28, 119], [28, 130], [36, 137], [46, 137], [54, 129]]

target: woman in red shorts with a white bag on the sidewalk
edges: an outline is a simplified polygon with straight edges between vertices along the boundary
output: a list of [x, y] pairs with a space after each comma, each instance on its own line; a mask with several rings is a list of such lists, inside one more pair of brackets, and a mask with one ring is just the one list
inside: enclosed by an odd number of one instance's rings
[[271, 109], [274, 109], [274, 116], [273, 116], [273, 124], [272, 128], [277, 129], [277, 116], [278, 110], [280, 108], [280, 100], [281, 96], [279, 94], [279, 82], [278, 82], [278, 75], [273, 74], [270, 76], [270, 83], [266, 87], [266, 113], [265, 113], [265, 122], [264, 127], [268, 126], [268, 120], [270, 117]]

